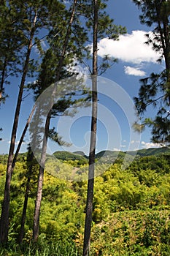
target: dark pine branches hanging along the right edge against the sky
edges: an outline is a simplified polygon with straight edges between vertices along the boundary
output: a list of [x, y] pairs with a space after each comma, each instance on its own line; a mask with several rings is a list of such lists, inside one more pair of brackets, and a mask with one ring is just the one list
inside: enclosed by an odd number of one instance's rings
[[147, 34], [147, 43], [161, 54], [159, 61], [164, 59], [165, 69], [160, 74], [152, 74], [141, 81], [139, 97], [135, 98], [136, 108], [141, 115], [152, 105], [157, 111], [155, 118], [145, 118], [145, 125], [152, 127], [152, 141], [169, 146], [170, 144], [170, 3], [166, 0], [138, 1], [134, 3], [142, 11], [141, 23], [151, 27], [152, 33]]

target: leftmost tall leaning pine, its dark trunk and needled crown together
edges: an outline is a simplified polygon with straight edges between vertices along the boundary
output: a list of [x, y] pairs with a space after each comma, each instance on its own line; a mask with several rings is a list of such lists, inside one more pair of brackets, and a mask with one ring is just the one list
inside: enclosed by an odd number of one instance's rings
[[18, 93], [18, 102], [15, 110], [15, 117], [12, 127], [12, 135], [9, 147], [9, 157], [7, 162], [7, 178], [4, 188], [4, 201], [1, 211], [0, 221], [0, 242], [7, 242], [9, 229], [9, 194], [12, 178], [12, 159], [15, 150], [15, 139], [18, 130], [18, 120], [20, 107], [23, 98], [23, 89], [30, 67], [31, 50], [36, 43], [39, 45], [38, 33], [41, 29], [49, 29], [52, 21], [57, 20], [58, 10], [63, 10], [63, 5], [58, 1], [8, 1], [9, 9], [15, 13], [15, 28], [20, 31], [22, 37], [21, 58], [23, 63], [20, 64], [20, 89]]

